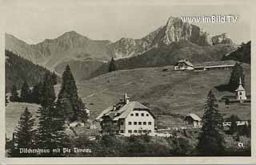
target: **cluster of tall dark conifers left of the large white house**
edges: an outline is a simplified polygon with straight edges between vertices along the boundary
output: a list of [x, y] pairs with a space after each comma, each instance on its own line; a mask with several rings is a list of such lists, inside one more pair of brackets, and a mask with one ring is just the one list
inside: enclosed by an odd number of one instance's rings
[[[62, 148], [68, 145], [65, 124], [75, 120], [86, 121], [87, 114], [82, 99], [78, 96], [78, 89], [69, 65], [66, 66], [62, 74], [62, 86], [56, 95], [54, 92], [54, 79], [46, 73], [40, 84], [38, 103], [38, 127], [34, 123], [34, 118], [28, 108], [20, 116], [18, 126], [14, 131], [11, 156], [62, 156], [62, 153], [53, 152], [54, 148]], [[25, 85], [26, 87], [26, 85]], [[25, 88], [24, 87], [24, 88]], [[27, 93], [27, 87], [26, 92]], [[21, 95], [22, 98], [23, 95]], [[41, 148], [49, 149], [47, 153], [20, 153], [19, 148]]]

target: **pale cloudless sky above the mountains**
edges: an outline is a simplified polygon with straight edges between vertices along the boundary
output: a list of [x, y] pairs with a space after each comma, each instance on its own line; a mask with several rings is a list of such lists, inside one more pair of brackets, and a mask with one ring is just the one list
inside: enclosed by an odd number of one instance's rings
[[94, 40], [141, 38], [166, 25], [170, 16], [235, 15], [237, 22], [194, 23], [211, 35], [226, 32], [236, 43], [250, 40], [252, 15], [242, 4], [178, 4], [177, 1], [5, 0], [4, 29], [22, 41], [36, 44], [76, 31]]

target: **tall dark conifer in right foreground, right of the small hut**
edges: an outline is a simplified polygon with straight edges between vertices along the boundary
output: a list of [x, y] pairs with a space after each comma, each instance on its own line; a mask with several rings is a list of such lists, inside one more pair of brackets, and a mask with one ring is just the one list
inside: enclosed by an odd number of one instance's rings
[[222, 155], [224, 151], [223, 118], [212, 91], [208, 93], [202, 117], [202, 132], [198, 136], [199, 155]]

